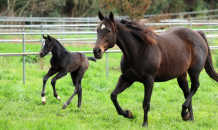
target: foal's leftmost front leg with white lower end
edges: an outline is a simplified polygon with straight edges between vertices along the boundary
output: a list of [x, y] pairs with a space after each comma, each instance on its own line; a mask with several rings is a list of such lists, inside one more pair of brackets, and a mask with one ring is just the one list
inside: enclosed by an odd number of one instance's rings
[[47, 82], [49, 77], [51, 77], [52, 75], [54, 75], [56, 73], [57, 73], [57, 71], [55, 69], [50, 68], [48, 73], [43, 77], [43, 87], [42, 87], [42, 93], [41, 93], [42, 103], [43, 104], [46, 103], [46, 100], [45, 100], [45, 85], [46, 85], [46, 82]]

